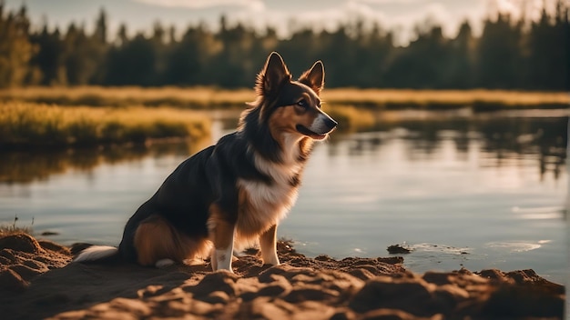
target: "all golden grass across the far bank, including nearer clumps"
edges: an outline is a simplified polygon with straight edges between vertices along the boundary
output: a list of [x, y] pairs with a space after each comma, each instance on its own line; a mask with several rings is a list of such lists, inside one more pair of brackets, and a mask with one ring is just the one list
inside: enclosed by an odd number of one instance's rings
[[[374, 111], [404, 108], [565, 108], [567, 93], [328, 89], [324, 110], [340, 130], [372, 127]], [[211, 87], [31, 87], [0, 90], [0, 147], [144, 143], [209, 135], [210, 118], [198, 110], [245, 108], [251, 89]], [[134, 106], [137, 105], [137, 106]], [[160, 107], [157, 107], [160, 106]], [[198, 109], [198, 110], [192, 110]]]

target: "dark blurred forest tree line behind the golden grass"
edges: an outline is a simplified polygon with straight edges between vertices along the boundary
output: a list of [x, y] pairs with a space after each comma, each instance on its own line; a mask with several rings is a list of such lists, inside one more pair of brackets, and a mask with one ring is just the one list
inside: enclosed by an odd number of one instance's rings
[[355, 21], [333, 31], [310, 27], [280, 38], [229, 25], [219, 29], [189, 26], [181, 38], [160, 23], [150, 35], [128, 36], [121, 25], [107, 35], [101, 10], [92, 33], [72, 23], [65, 31], [32, 27], [25, 6], [5, 12], [0, 3], [0, 87], [20, 85], [253, 85], [271, 51], [284, 56], [294, 75], [322, 60], [327, 86], [416, 89], [570, 88], [570, 5], [559, 0], [555, 14], [543, 10], [538, 21], [498, 14], [473, 35], [465, 21], [457, 35], [423, 24], [407, 46], [394, 45], [394, 33]]

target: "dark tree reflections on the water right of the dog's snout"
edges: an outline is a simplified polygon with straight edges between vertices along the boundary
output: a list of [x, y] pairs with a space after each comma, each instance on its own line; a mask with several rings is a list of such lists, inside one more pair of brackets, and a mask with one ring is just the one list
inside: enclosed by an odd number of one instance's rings
[[[442, 115], [434, 117], [433, 115]], [[354, 137], [349, 153], [376, 152], [384, 141], [403, 139], [408, 142], [406, 155], [408, 160], [425, 160], [437, 153], [443, 142], [451, 142], [456, 156], [467, 159], [469, 147], [473, 142], [480, 142], [480, 148], [488, 153], [488, 166], [502, 167], [513, 158], [535, 159], [540, 168], [541, 181], [548, 173], [555, 179], [565, 170], [567, 145], [567, 110], [545, 110], [542, 115], [520, 113], [489, 113], [469, 116], [456, 114], [432, 113], [409, 115], [394, 121], [379, 122], [374, 135]], [[330, 152], [338, 151], [334, 139]], [[531, 155], [531, 156], [529, 156]], [[483, 163], [483, 165], [485, 165]]]

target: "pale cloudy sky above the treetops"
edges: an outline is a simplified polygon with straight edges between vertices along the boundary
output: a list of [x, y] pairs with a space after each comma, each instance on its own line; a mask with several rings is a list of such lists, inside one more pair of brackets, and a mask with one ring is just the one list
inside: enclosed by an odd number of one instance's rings
[[527, 15], [537, 16], [545, 1], [552, 6], [555, 0], [4, 0], [8, 10], [25, 4], [34, 25], [47, 23], [62, 30], [71, 22], [92, 30], [101, 8], [107, 12], [109, 35], [116, 35], [123, 23], [131, 35], [150, 32], [157, 21], [174, 25], [179, 34], [200, 22], [216, 30], [219, 17], [226, 15], [229, 24], [241, 22], [260, 30], [272, 25], [286, 37], [294, 28], [333, 30], [339, 22], [361, 18], [396, 30], [402, 45], [412, 40], [418, 24], [436, 23], [444, 35], [454, 36], [468, 19], [477, 34], [491, 13], [516, 17], [525, 7]]

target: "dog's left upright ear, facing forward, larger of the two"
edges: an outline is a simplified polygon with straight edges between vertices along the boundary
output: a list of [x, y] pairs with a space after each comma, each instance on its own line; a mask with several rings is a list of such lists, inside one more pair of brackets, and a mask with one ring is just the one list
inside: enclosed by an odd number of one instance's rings
[[280, 85], [285, 81], [290, 81], [290, 79], [291, 75], [287, 65], [283, 62], [283, 58], [278, 53], [272, 52], [258, 75], [255, 92], [263, 96], [275, 95], [279, 91]]

